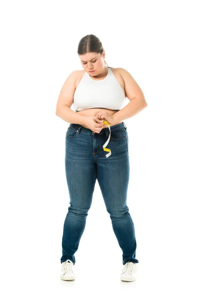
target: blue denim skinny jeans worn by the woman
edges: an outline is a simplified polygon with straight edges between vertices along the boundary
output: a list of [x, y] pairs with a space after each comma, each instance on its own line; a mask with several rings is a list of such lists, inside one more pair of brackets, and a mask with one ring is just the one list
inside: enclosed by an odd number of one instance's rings
[[139, 263], [135, 258], [136, 240], [132, 218], [126, 205], [129, 182], [128, 134], [122, 122], [94, 133], [79, 124], [70, 124], [66, 132], [65, 171], [70, 206], [64, 222], [61, 263], [75, 264], [75, 252], [85, 229], [98, 179], [112, 228], [122, 250], [122, 263]]

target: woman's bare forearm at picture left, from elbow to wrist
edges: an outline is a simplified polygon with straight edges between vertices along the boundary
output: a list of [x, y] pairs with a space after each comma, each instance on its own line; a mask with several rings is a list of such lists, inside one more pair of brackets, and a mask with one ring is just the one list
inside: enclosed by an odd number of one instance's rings
[[81, 126], [84, 125], [85, 117], [79, 115], [68, 106], [61, 106], [60, 108], [57, 107], [56, 115], [69, 124], [80, 124]]

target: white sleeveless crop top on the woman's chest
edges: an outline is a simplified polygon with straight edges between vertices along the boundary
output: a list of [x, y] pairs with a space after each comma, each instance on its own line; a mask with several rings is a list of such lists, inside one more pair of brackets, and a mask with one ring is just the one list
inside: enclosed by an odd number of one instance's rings
[[110, 67], [102, 80], [94, 80], [85, 72], [74, 94], [76, 112], [90, 108], [119, 111], [126, 99], [124, 92]]

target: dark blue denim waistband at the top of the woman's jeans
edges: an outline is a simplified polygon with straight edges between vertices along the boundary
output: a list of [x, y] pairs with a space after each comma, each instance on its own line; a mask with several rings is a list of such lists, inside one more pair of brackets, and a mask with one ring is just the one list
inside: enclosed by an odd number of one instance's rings
[[114, 131], [117, 131], [117, 130], [121, 130], [121, 129], [124, 129], [126, 130], [126, 125], [124, 124], [124, 122], [121, 122], [120, 124], [117, 124], [117, 125], [113, 125], [110, 127], [110, 131], [109, 131], [109, 128], [103, 128], [100, 133], [94, 133], [92, 130], [88, 129], [88, 128], [85, 128], [83, 127], [82, 125], [79, 125], [79, 124], [70, 124], [69, 125], [70, 129], [73, 129], [74, 131], [77, 131], [78, 134], [80, 133], [80, 130], [84, 133], [87, 133], [87, 134], [90, 134], [90, 135], [102, 135], [102, 134], [106, 134], [106, 136], [109, 135], [109, 133], [111, 132], [114, 132]]

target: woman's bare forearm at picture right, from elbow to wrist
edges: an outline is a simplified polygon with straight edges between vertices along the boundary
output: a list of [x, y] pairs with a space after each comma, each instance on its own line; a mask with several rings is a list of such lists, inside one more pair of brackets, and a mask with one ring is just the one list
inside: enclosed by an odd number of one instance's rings
[[123, 120], [134, 116], [135, 114], [143, 110], [146, 106], [147, 103], [145, 99], [135, 97], [124, 108], [113, 114], [114, 123], [122, 122]]

